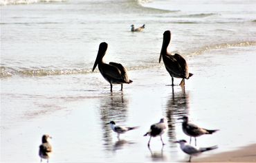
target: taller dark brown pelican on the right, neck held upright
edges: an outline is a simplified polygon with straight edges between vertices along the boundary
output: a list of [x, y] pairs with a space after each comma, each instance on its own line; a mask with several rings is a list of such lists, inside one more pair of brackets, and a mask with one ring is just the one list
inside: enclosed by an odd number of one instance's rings
[[159, 63], [163, 57], [165, 68], [172, 76], [172, 85], [174, 85], [174, 78], [182, 78], [180, 85], [185, 85], [185, 80], [190, 78], [193, 74], [188, 73], [188, 65], [185, 59], [179, 54], [170, 54], [167, 52], [167, 47], [171, 41], [171, 32], [167, 30], [163, 33], [163, 45], [160, 53]]

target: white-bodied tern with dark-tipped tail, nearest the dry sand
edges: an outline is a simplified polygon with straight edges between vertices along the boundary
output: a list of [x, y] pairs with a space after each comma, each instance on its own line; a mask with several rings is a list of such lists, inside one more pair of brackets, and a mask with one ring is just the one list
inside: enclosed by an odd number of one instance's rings
[[196, 156], [199, 155], [205, 151], [210, 151], [212, 149], [217, 149], [218, 146], [210, 146], [210, 147], [206, 147], [206, 148], [196, 148], [194, 146], [190, 146], [189, 144], [187, 144], [186, 140], [179, 140], [179, 141], [175, 141], [176, 143], [179, 143], [181, 146], [181, 150], [185, 153], [187, 153], [188, 155], [190, 155], [190, 160], [188, 160], [188, 162], [191, 162], [191, 157], [192, 156]]

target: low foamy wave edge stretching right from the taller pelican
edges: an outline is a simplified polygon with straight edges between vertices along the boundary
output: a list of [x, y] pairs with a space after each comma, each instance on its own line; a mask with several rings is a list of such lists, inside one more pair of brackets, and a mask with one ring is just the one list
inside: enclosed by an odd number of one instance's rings
[[256, 41], [243, 41], [237, 43], [220, 43], [215, 45], [205, 45], [195, 52], [191, 52], [188, 56], [196, 56], [208, 52], [210, 50], [218, 50], [218, 49], [225, 49], [228, 47], [247, 47], [247, 46], [256, 46]]

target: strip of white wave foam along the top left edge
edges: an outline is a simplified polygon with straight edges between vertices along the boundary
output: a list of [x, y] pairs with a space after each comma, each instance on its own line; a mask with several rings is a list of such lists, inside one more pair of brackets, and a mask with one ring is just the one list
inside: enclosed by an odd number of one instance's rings
[[22, 4], [31, 4], [31, 3], [54, 3], [62, 2], [67, 0], [0, 0], [0, 6], [6, 5], [22, 5]]

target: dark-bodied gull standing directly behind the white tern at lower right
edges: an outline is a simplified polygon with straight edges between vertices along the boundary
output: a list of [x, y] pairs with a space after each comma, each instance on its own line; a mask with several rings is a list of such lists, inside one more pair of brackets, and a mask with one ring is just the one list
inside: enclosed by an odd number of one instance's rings
[[182, 130], [186, 135], [190, 136], [190, 144], [191, 144], [191, 138], [194, 137], [195, 146], [196, 146], [196, 137], [204, 134], [212, 134], [216, 131], [219, 131], [218, 129], [210, 130], [210, 129], [203, 129], [201, 127], [198, 127], [196, 126], [196, 124], [192, 124], [188, 122], [188, 116], [183, 116], [182, 118], [178, 118], [178, 120], [183, 120]]

